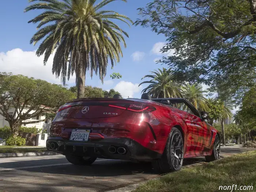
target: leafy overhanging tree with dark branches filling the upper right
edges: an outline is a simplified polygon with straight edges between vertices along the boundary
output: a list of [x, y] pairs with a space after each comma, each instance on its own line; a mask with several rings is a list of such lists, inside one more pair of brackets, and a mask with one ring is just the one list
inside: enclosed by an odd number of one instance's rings
[[237, 104], [256, 80], [255, 0], [152, 0], [135, 25], [165, 34], [161, 63], [181, 81], [211, 85]]

